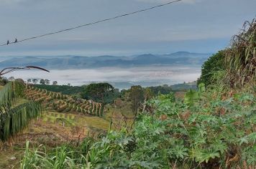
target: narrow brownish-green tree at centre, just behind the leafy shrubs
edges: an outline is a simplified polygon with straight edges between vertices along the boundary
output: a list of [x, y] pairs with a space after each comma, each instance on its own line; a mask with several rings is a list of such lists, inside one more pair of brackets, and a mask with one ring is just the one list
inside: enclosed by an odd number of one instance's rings
[[129, 92], [129, 97], [132, 101], [132, 111], [136, 113], [144, 98], [143, 88], [140, 85], [132, 86]]

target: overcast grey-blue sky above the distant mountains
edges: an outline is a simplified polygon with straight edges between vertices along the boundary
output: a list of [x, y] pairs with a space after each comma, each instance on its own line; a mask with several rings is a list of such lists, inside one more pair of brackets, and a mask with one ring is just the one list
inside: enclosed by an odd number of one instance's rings
[[[0, 43], [167, 1], [0, 0]], [[255, 9], [255, 0], [184, 0], [134, 16], [0, 47], [0, 56], [216, 52], [229, 45], [245, 20], [255, 17]]]

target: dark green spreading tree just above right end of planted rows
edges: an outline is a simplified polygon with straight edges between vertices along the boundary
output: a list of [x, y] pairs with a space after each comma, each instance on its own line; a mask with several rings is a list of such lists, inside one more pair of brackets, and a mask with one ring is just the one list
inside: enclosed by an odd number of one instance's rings
[[84, 99], [104, 102], [104, 97], [109, 97], [114, 92], [114, 87], [109, 83], [92, 83], [86, 86], [81, 94]]

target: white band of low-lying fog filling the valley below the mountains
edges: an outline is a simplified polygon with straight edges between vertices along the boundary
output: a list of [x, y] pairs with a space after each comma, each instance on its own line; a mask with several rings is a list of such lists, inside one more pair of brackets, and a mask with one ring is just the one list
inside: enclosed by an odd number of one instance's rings
[[109, 82], [119, 89], [140, 84], [143, 87], [162, 84], [178, 84], [192, 82], [201, 74], [201, 67], [132, 67], [132, 68], [100, 68], [100, 69], [66, 69], [42, 72], [25, 70], [12, 72], [6, 76], [31, 79], [50, 79], [58, 84], [83, 85], [91, 82]]

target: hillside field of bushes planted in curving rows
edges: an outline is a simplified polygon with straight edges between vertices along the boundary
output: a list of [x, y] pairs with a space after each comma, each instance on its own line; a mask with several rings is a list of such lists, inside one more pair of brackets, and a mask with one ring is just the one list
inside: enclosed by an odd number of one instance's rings
[[104, 112], [104, 105], [91, 100], [75, 100], [69, 95], [58, 92], [49, 92], [27, 85], [26, 95], [29, 100], [42, 102], [45, 108], [58, 112], [81, 112], [83, 114], [101, 116]]

